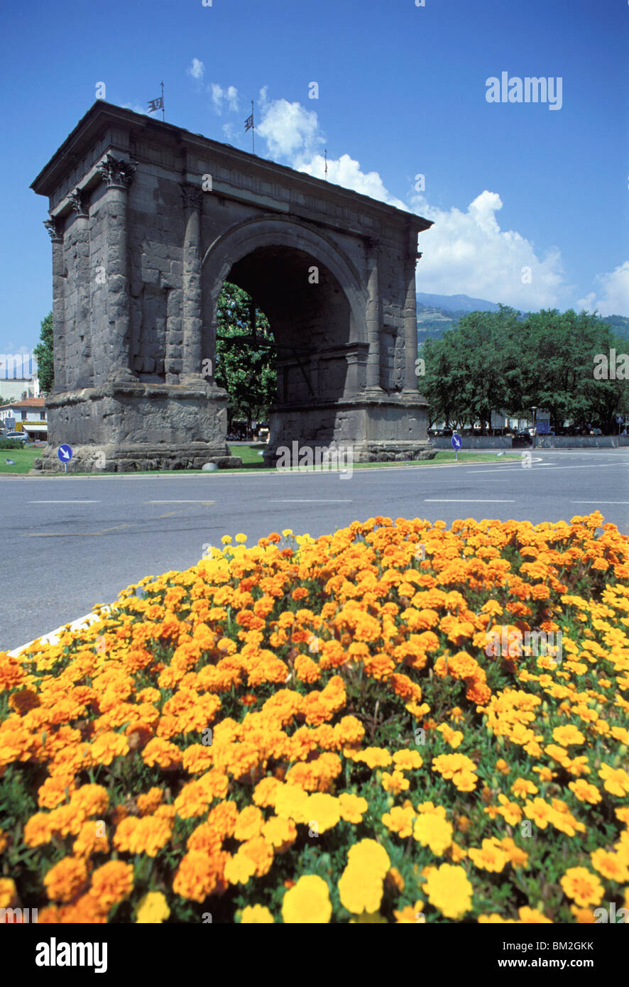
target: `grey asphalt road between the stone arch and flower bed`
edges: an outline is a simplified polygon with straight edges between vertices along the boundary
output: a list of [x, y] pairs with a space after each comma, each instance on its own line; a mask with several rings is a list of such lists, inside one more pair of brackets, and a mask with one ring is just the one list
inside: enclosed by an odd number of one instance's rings
[[146, 575], [188, 569], [204, 545], [292, 528], [316, 537], [376, 514], [570, 520], [599, 509], [629, 534], [629, 449], [532, 451], [520, 463], [318, 474], [4, 477], [0, 649], [109, 603]]

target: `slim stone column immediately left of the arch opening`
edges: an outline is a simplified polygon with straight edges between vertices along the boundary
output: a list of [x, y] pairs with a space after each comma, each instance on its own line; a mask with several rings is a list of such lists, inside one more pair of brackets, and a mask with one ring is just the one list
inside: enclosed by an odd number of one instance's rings
[[[201, 353], [203, 326], [203, 306], [201, 295], [201, 243], [200, 214], [203, 192], [200, 186], [182, 186], [186, 233], [184, 237], [184, 296], [182, 303], [182, 323], [184, 331], [182, 383], [203, 380], [201, 361], [213, 359], [213, 354]], [[212, 363], [213, 371], [213, 363]], [[212, 372], [213, 377], [213, 372]]]

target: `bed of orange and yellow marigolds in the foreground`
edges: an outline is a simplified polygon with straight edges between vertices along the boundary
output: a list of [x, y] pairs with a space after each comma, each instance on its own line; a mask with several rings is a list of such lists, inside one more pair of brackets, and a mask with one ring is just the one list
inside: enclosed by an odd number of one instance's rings
[[[58, 645], [0, 653], [0, 907], [541, 923], [629, 906], [629, 539], [601, 525], [237, 535]], [[561, 632], [561, 659], [487, 646], [506, 631]]]

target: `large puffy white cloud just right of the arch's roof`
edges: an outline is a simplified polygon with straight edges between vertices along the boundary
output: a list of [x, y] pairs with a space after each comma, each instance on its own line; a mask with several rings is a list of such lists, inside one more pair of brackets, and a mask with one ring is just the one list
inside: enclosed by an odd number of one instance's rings
[[496, 213], [503, 202], [497, 192], [482, 191], [465, 212], [432, 207], [425, 196], [412, 199], [415, 211], [434, 223], [420, 234], [419, 290], [472, 295], [525, 312], [570, 304], [571, 285], [559, 250], [538, 257], [516, 230], [502, 230]]

